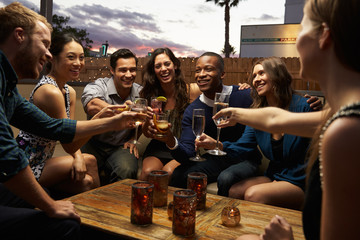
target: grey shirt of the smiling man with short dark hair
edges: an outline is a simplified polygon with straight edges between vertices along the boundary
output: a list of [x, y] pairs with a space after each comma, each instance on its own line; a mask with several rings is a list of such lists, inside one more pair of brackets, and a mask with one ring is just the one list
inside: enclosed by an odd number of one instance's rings
[[[87, 84], [84, 88], [84, 92], [81, 96], [81, 103], [83, 104], [84, 110], [90, 100], [99, 98], [111, 105], [124, 104], [126, 100], [134, 101], [135, 97], [139, 97], [139, 92], [142, 89], [137, 83], [133, 83], [130, 95], [126, 99], [122, 99], [115, 88], [114, 79], [111, 78], [99, 78], [94, 82]], [[87, 115], [88, 119], [92, 116]], [[113, 146], [124, 145], [133, 135], [134, 131], [125, 129], [122, 131], [111, 131], [103, 134], [94, 136], [93, 138], [97, 141], [101, 141]]]

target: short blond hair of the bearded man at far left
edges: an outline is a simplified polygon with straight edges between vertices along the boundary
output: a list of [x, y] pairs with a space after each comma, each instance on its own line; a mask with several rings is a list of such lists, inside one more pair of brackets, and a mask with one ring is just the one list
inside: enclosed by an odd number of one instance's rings
[[32, 34], [37, 21], [44, 23], [52, 32], [52, 26], [44, 16], [24, 7], [19, 2], [0, 8], [0, 44], [4, 43], [17, 27], [23, 28], [27, 34]]

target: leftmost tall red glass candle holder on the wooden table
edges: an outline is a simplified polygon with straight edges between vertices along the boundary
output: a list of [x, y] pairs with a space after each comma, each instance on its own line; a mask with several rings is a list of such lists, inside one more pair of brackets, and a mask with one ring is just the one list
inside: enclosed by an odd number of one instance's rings
[[154, 185], [149, 182], [136, 182], [131, 186], [131, 223], [152, 223], [153, 190]]

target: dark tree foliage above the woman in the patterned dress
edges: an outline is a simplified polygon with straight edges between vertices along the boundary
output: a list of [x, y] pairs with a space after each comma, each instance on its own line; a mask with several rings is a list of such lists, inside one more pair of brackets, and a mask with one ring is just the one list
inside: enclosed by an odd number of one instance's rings
[[91, 44], [93, 40], [91, 40], [88, 36], [89, 33], [86, 32], [86, 29], [79, 29], [73, 28], [68, 26], [67, 23], [69, 22], [70, 17], [63, 17], [58, 15], [53, 15], [52, 18], [52, 26], [53, 26], [53, 35], [56, 36], [60, 33], [72, 33], [76, 38], [78, 38], [84, 47], [85, 56], [89, 56], [89, 51], [92, 48]]

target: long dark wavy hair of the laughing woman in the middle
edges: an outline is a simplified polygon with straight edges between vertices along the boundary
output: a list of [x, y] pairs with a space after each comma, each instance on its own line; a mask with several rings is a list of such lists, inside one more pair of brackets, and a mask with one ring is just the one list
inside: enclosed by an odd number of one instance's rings
[[149, 61], [145, 64], [142, 71], [143, 89], [140, 91], [140, 96], [146, 98], [150, 102], [151, 97], [164, 95], [164, 90], [162, 89], [160, 81], [155, 74], [155, 58], [163, 53], [170, 58], [175, 67], [175, 109], [182, 115], [189, 103], [189, 94], [187, 92], [184, 76], [181, 72], [181, 62], [175, 57], [174, 53], [169, 48], [157, 48], [151, 54]]

